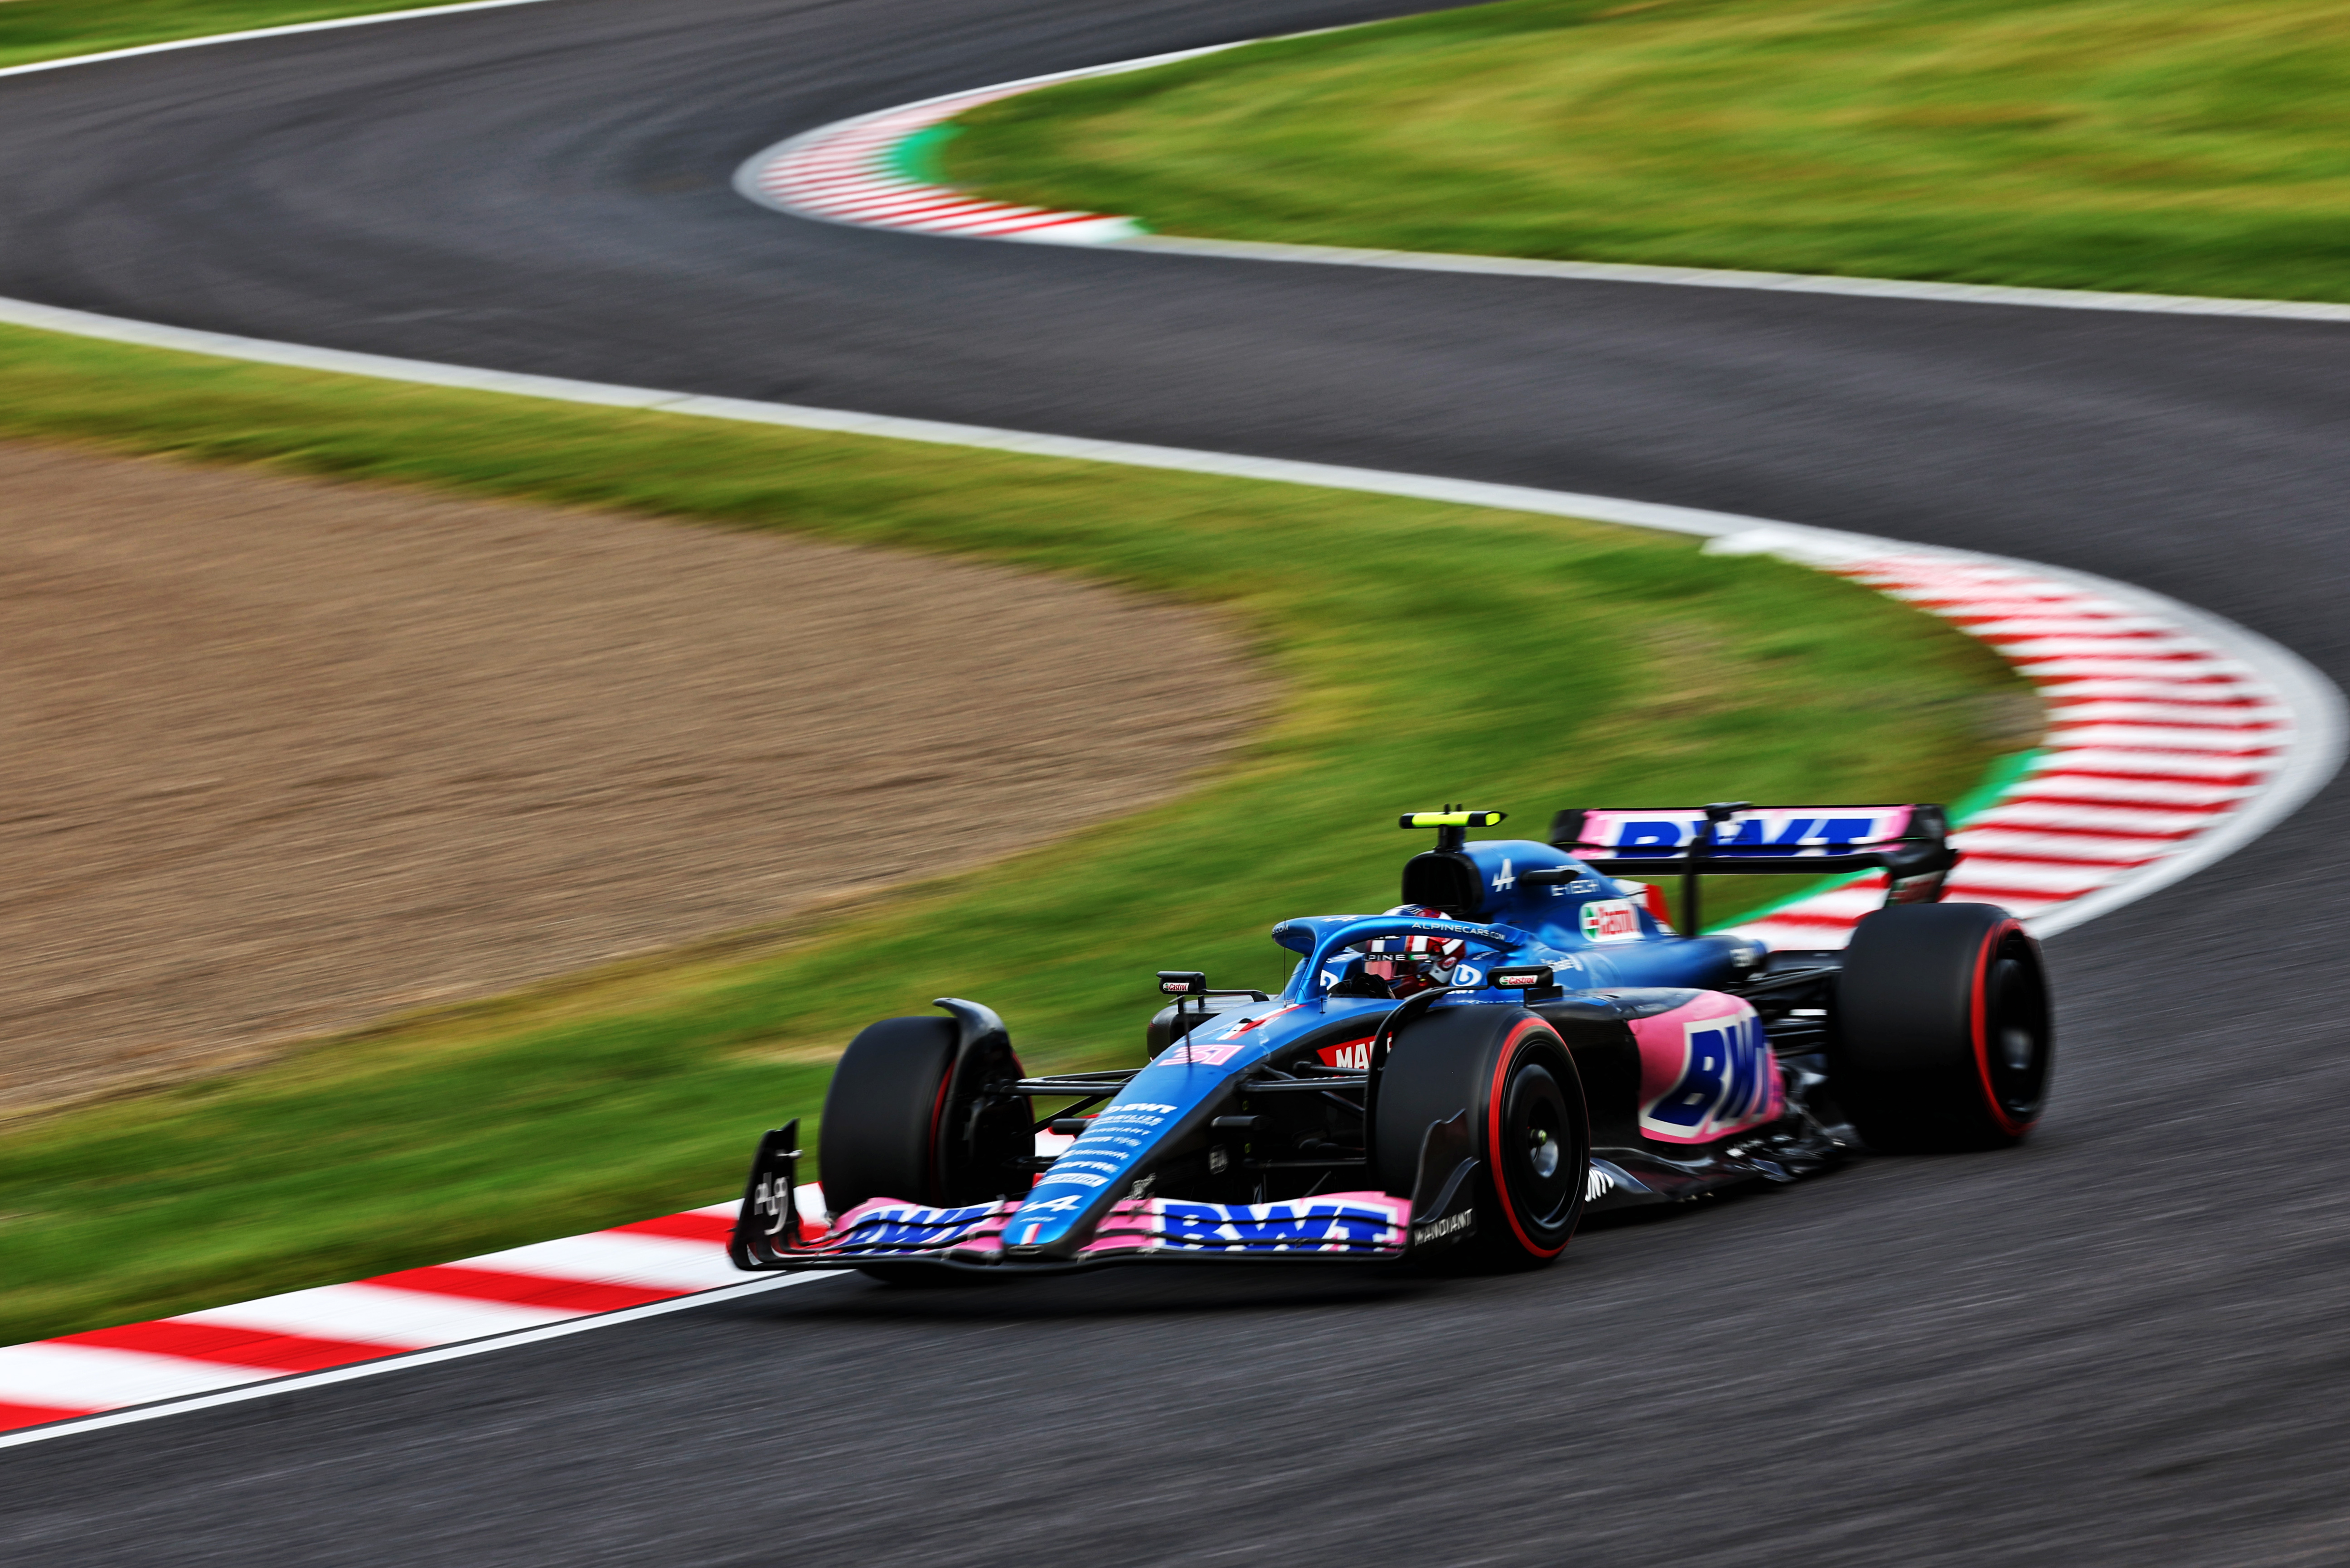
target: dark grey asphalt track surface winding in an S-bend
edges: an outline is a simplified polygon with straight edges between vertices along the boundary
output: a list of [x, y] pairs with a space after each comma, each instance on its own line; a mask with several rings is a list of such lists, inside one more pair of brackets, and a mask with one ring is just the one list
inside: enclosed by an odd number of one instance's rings
[[[2345, 326], [1083, 254], [726, 188], [841, 115], [1401, 9], [557, 0], [19, 77], [0, 293], [2014, 552], [2350, 683]], [[2334, 784], [2056, 939], [2014, 1153], [1528, 1277], [804, 1284], [14, 1451], [0, 1556], [2343, 1561], [2345, 829]]]

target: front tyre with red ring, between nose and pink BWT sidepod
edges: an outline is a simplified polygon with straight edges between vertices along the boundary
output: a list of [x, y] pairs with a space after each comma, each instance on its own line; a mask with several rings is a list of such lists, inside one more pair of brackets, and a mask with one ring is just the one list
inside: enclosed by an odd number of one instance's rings
[[1408, 1023], [1379, 1073], [1372, 1157], [1410, 1197], [1431, 1122], [1469, 1113], [1478, 1160], [1478, 1263], [1537, 1268], [1567, 1249], [1584, 1216], [1591, 1113], [1567, 1045], [1518, 1007], [1438, 1007]]

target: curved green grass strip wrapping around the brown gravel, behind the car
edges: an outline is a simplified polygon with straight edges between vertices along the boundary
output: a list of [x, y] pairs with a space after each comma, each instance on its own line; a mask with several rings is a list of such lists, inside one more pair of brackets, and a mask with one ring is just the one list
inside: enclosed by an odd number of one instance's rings
[[1593, 523], [31, 331], [0, 331], [0, 437], [1076, 573], [1224, 617], [1283, 692], [1189, 796], [989, 871], [14, 1124], [0, 1343], [710, 1202], [860, 1023], [940, 993], [1032, 1066], [1130, 1061], [1154, 967], [1271, 984], [1276, 918], [1391, 904], [1403, 807], [1950, 798], [2016, 744], [2021, 685], [1943, 624]]

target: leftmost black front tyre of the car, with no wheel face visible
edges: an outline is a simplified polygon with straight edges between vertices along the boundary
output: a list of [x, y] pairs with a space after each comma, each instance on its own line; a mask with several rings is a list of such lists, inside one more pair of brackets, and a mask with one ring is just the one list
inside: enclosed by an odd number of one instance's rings
[[[1003, 1094], [1020, 1059], [1001, 1035], [959, 1042], [954, 1019], [881, 1019], [848, 1042], [818, 1143], [832, 1214], [874, 1197], [954, 1209], [1029, 1188], [1018, 1160], [1036, 1150], [1034, 1113]], [[893, 1284], [954, 1277], [924, 1263], [865, 1272]]]

